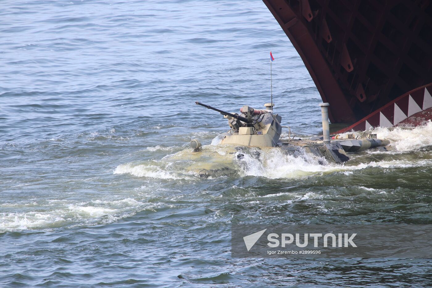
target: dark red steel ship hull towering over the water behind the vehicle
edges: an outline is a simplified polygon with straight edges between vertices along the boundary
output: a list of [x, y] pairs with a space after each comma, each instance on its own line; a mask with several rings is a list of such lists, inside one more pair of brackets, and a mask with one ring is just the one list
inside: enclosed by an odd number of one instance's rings
[[[397, 108], [406, 118], [430, 108], [429, 0], [263, 2], [298, 51], [323, 102], [330, 103], [330, 122], [359, 122], [352, 128], [365, 130], [403, 122]], [[414, 102], [418, 107], [410, 108]]]

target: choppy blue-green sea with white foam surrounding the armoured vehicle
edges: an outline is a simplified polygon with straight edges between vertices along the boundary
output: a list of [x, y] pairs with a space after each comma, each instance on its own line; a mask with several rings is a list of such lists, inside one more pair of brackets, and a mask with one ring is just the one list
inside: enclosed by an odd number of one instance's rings
[[[211, 145], [226, 120], [194, 102], [262, 107], [270, 50], [283, 124], [321, 131], [314, 83], [261, 1], [1, 8], [2, 287], [430, 284], [419, 259], [231, 259], [231, 223], [432, 223], [430, 122], [377, 129], [394, 150], [344, 166], [273, 149], [239, 166]], [[229, 173], [198, 177], [209, 165]]]

